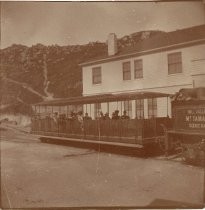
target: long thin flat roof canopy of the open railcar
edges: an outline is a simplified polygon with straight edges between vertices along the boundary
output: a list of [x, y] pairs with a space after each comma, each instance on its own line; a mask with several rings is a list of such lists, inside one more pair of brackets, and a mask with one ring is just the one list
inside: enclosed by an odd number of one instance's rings
[[79, 96], [64, 99], [55, 99], [49, 101], [43, 101], [34, 105], [42, 106], [63, 106], [63, 105], [78, 105], [78, 104], [92, 104], [92, 103], [104, 103], [115, 101], [126, 101], [135, 99], [146, 98], [161, 98], [169, 97], [170, 94], [159, 92], [132, 92], [132, 93], [119, 93], [119, 94], [101, 94], [92, 96]]

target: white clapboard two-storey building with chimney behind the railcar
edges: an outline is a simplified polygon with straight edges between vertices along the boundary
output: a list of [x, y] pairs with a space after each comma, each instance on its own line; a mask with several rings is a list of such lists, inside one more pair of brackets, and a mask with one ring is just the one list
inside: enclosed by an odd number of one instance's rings
[[[205, 86], [205, 25], [161, 33], [118, 50], [115, 34], [108, 36], [108, 52], [102, 58], [80, 64], [83, 96], [130, 92], [173, 94], [181, 88]], [[86, 107], [84, 106], [84, 112]], [[171, 115], [166, 98], [91, 104], [88, 114], [111, 115], [126, 110], [131, 118]]]

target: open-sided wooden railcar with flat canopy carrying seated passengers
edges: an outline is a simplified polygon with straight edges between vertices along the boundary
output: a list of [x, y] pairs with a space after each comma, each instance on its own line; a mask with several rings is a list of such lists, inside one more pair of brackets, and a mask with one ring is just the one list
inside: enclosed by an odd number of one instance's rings
[[[110, 142], [122, 144], [135, 144], [142, 147], [158, 143], [164, 139], [163, 126], [171, 127], [171, 119], [168, 114], [165, 117], [151, 117], [149, 119], [90, 119], [83, 120], [83, 124], [77, 119], [69, 117], [69, 106], [86, 107], [96, 103], [109, 103], [122, 101], [149, 99], [149, 98], [167, 98], [169, 94], [156, 92], [137, 92], [129, 94], [105, 94], [97, 96], [75, 97], [62, 100], [44, 101], [35, 104], [35, 110], [44, 109], [45, 113], [36, 114], [32, 118], [32, 133], [41, 135], [42, 138], [49, 136], [65, 137], [72, 139], [94, 140], [97, 142]], [[51, 113], [46, 114], [47, 107], [50, 107]], [[54, 107], [65, 108], [65, 113], [55, 119]], [[168, 104], [167, 104], [168, 109]], [[55, 109], [56, 110], [56, 109]], [[85, 110], [83, 110], [85, 113]], [[53, 113], [52, 113], [53, 112]], [[122, 110], [119, 110], [122, 113]], [[168, 112], [167, 112], [168, 113]], [[41, 139], [42, 139], [41, 138]], [[59, 138], [60, 139], [60, 138]], [[60, 140], [59, 140], [60, 141]]]

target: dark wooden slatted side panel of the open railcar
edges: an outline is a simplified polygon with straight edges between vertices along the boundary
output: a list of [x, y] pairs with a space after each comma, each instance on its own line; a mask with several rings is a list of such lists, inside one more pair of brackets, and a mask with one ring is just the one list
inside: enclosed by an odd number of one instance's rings
[[163, 136], [161, 124], [169, 127], [171, 119], [120, 119], [120, 120], [78, 120], [46, 117], [32, 119], [32, 132], [46, 136], [61, 136], [104, 141], [143, 144], [143, 141], [154, 141]]

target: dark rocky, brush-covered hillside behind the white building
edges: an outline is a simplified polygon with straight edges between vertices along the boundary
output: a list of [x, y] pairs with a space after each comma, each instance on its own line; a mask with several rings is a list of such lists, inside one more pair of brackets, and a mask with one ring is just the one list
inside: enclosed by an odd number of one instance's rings
[[[122, 49], [158, 33], [162, 32], [139, 32], [125, 36], [118, 40], [118, 47]], [[3, 110], [30, 113], [31, 109], [27, 107], [46, 96], [45, 70], [47, 91], [54, 98], [80, 96], [82, 73], [79, 63], [106, 55], [107, 45], [99, 42], [71, 46], [36, 44], [32, 47], [14, 44], [0, 53], [0, 100], [1, 105], [10, 107]]]

